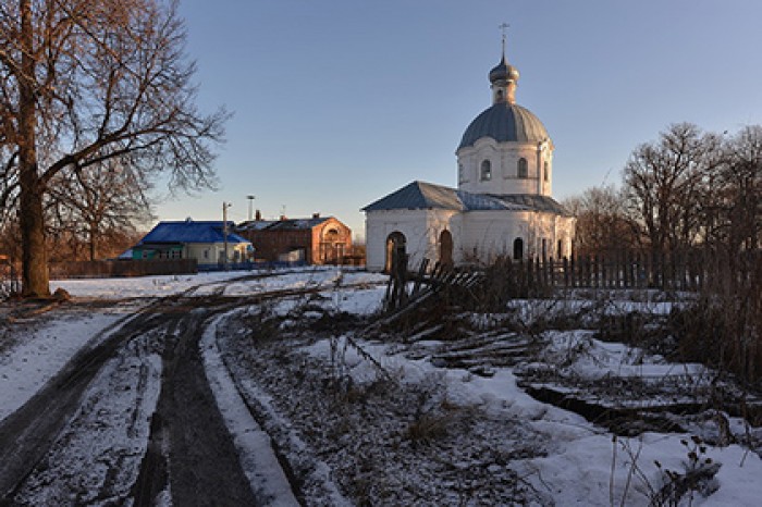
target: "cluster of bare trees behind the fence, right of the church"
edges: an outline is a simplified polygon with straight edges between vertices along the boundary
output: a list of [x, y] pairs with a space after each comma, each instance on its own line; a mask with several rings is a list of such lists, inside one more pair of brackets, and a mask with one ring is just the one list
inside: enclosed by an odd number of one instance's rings
[[565, 205], [582, 255], [703, 250], [733, 262], [760, 250], [760, 195], [762, 126], [728, 135], [678, 123], [632, 151], [620, 186], [592, 187]]

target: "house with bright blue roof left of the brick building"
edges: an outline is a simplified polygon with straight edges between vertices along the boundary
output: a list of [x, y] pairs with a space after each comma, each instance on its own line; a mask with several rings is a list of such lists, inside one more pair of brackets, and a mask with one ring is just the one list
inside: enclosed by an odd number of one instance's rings
[[[133, 259], [196, 259], [198, 269], [218, 269], [246, 262], [254, 257], [251, 243], [233, 232], [235, 224], [222, 221], [159, 222], [132, 248]], [[226, 238], [225, 238], [226, 236]], [[225, 242], [226, 239], [226, 242]]]

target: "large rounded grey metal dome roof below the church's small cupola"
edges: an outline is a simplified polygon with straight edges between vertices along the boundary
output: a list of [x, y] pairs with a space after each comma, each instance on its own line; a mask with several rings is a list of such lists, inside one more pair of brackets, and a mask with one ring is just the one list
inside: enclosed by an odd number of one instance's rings
[[457, 149], [474, 146], [482, 137], [491, 137], [497, 143], [540, 143], [550, 136], [542, 122], [528, 109], [497, 102], [468, 125]]

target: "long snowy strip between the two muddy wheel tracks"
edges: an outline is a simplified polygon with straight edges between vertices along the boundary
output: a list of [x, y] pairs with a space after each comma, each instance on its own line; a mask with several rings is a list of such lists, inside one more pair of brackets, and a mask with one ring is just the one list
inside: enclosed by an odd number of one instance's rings
[[[78, 411], [27, 478], [27, 505], [115, 505], [127, 497], [148, 445], [161, 392], [162, 362], [152, 334], [133, 338], [107, 361]], [[111, 470], [118, 470], [116, 477]], [[84, 489], [86, 496], [78, 493]], [[103, 497], [108, 492], [107, 497]]]

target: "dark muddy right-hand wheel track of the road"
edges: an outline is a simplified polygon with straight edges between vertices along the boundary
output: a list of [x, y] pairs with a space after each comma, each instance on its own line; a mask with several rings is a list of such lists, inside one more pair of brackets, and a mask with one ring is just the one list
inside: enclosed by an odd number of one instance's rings
[[174, 322], [148, 450], [133, 486], [135, 505], [258, 505], [206, 378], [198, 341], [222, 308], [196, 309]]

